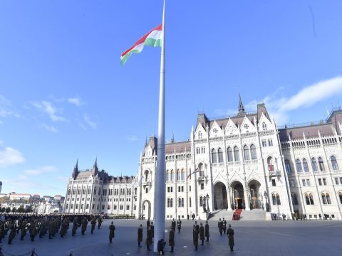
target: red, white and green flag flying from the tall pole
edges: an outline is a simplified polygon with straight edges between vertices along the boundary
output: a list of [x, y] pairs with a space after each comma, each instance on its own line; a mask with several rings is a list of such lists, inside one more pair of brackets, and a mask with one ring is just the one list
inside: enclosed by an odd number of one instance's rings
[[147, 33], [145, 36], [142, 36], [131, 48], [125, 50], [123, 54], [121, 54], [121, 65], [124, 65], [128, 60], [132, 53], [141, 53], [144, 46], [152, 46], [157, 47], [162, 44], [162, 24], [155, 27]]

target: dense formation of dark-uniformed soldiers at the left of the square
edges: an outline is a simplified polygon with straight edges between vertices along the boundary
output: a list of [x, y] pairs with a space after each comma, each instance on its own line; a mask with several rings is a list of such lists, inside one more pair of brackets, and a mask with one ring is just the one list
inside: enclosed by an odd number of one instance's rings
[[98, 220], [99, 229], [102, 223], [102, 218], [95, 215], [1, 215], [0, 243], [5, 235], [9, 233], [8, 243], [11, 245], [12, 240], [19, 232], [20, 240], [24, 240], [26, 234], [29, 233], [32, 242], [37, 235], [39, 238], [43, 238], [47, 233], [48, 239], [52, 239], [58, 232], [63, 238], [68, 231], [71, 220], [73, 220], [72, 235], [76, 235], [76, 230], [80, 226], [81, 233], [84, 235], [88, 220], [90, 220], [92, 234], [96, 220]]

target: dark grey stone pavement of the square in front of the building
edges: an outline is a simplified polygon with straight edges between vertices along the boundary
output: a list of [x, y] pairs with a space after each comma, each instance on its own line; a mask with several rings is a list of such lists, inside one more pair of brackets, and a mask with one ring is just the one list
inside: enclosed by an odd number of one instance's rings
[[[144, 242], [139, 249], [137, 230], [140, 223], [144, 228]], [[227, 235], [219, 236], [216, 221], [209, 221], [209, 242], [204, 242], [204, 246], [199, 245], [198, 251], [195, 252], [192, 245], [193, 223], [192, 220], [182, 220], [181, 232], [175, 233], [173, 255], [321, 256], [341, 255], [342, 250], [342, 221], [229, 221], [235, 233], [234, 252], [229, 251]], [[90, 225], [88, 225], [86, 235], [81, 235], [80, 228], [75, 237], [71, 236], [69, 230], [65, 238], [55, 236], [52, 240], [48, 240], [46, 236], [41, 239], [36, 237], [35, 242], [31, 242], [28, 235], [24, 241], [16, 235], [13, 245], [7, 245], [7, 235], [0, 245], [5, 252], [12, 255], [23, 255], [33, 247], [38, 256], [68, 256], [71, 250], [74, 256], [157, 255], [156, 252], [146, 250], [146, 220], [114, 220], [114, 224], [115, 238], [111, 244], [108, 240], [110, 220], [105, 220], [101, 229], [95, 229], [93, 235], [90, 234]], [[167, 221], [166, 226], [170, 226], [170, 221]], [[165, 255], [172, 255], [168, 252], [170, 250], [168, 233], [165, 234], [165, 239], [167, 241]]]

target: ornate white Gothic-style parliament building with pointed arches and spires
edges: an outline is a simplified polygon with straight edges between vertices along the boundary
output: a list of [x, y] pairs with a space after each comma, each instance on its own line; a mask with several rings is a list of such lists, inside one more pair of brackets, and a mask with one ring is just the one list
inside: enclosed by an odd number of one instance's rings
[[[198, 114], [190, 139], [165, 145], [166, 218], [224, 209], [265, 215], [342, 218], [342, 110], [307, 125], [278, 128], [264, 104], [208, 119]], [[65, 213], [153, 218], [157, 138], [150, 137], [135, 176], [73, 169]]]

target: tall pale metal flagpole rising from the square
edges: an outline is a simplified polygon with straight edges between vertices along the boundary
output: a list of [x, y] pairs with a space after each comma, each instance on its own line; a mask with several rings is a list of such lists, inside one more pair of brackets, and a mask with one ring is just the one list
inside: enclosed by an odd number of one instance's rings
[[155, 242], [165, 240], [165, 0], [162, 8], [162, 51], [160, 59], [160, 89], [158, 114], [157, 171], [155, 173]]

